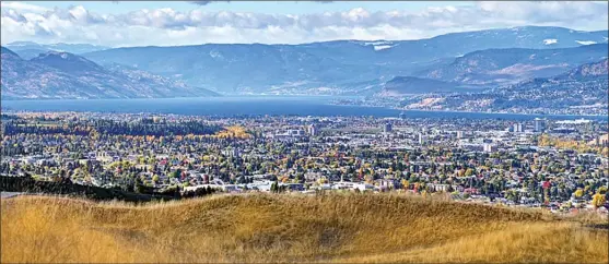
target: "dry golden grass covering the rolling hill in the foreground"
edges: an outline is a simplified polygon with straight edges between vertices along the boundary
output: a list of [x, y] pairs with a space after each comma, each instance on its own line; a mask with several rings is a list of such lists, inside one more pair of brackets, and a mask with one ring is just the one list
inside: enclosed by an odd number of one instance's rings
[[[590, 221], [590, 220], [588, 220]], [[390, 194], [2, 201], [1, 262], [608, 262], [607, 230]]]

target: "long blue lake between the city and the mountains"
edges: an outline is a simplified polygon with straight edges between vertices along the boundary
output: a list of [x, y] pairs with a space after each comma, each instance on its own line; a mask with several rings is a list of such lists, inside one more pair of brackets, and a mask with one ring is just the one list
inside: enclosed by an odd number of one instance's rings
[[[2, 100], [2, 109], [28, 111], [99, 111], [99, 112], [159, 112], [200, 116], [373, 116], [398, 117], [401, 110], [366, 107], [338, 106], [330, 103], [331, 96], [225, 96], [197, 98], [154, 99], [58, 99], [58, 100]], [[351, 97], [353, 98], [353, 97]], [[537, 117], [549, 119], [593, 119], [607, 121], [607, 117], [541, 116], [485, 112], [405, 111], [411, 118], [468, 118], [531, 120]]]

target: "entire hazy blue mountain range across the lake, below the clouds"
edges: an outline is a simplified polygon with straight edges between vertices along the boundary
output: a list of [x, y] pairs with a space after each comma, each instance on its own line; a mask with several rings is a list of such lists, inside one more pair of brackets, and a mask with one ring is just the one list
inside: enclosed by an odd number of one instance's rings
[[[607, 31], [524, 26], [419, 40], [302, 45], [13, 43], [5, 48], [14, 52], [2, 49], [2, 93], [11, 98], [479, 93], [606, 59], [607, 36]], [[44, 52], [32, 56], [32, 50]]]

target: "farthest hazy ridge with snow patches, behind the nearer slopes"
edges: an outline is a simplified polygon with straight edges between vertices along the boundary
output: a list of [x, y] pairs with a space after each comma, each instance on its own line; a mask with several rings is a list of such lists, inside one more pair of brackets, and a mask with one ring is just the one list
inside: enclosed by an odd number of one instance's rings
[[[477, 50], [575, 48], [584, 46], [582, 43], [607, 43], [607, 32], [525, 26], [446, 34], [418, 40], [130, 47], [83, 56], [102, 65], [119, 63], [133, 67], [221, 94], [352, 94], [353, 83], [419, 76], [414, 73], [432, 65], [443, 67], [446, 61], [453, 61], [447, 58]], [[594, 60], [599, 59], [596, 56]], [[594, 60], [560, 63], [581, 64]], [[318, 89], [320, 87], [329, 89]]]

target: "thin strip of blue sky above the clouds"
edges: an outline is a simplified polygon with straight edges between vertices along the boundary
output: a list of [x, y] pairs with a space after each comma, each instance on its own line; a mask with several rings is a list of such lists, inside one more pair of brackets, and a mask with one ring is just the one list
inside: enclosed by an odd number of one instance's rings
[[70, 8], [72, 5], [83, 5], [87, 10], [95, 10], [102, 13], [120, 13], [125, 11], [136, 11], [141, 9], [162, 9], [172, 8], [176, 11], [188, 11], [201, 8], [208, 11], [234, 11], [254, 13], [317, 13], [317, 12], [340, 12], [355, 8], [363, 8], [371, 12], [409, 10], [421, 11], [429, 7], [445, 5], [472, 5], [469, 1], [336, 1], [336, 2], [314, 2], [314, 1], [218, 1], [202, 7], [197, 7], [187, 1], [24, 1], [25, 3], [46, 7], [46, 8]]

